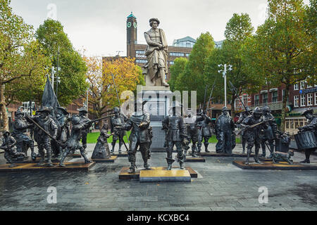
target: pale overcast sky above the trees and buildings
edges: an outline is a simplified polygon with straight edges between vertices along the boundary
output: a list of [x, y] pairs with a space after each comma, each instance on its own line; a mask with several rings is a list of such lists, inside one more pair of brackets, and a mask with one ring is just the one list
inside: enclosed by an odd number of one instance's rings
[[[306, 0], [305, 2], [308, 2]], [[174, 39], [210, 32], [215, 41], [224, 39], [225, 25], [233, 13], [248, 13], [256, 28], [265, 20], [266, 0], [11, 0], [13, 11], [35, 29], [47, 17], [61, 21], [75, 49], [88, 56], [126, 56], [126, 20], [137, 18], [137, 41], [149, 18], [159, 18], [168, 44]]]

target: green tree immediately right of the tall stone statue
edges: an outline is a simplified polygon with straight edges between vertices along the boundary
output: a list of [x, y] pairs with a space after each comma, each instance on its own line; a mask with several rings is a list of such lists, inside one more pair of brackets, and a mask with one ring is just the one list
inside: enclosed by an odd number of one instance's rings
[[[215, 43], [209, 32], [201, 34], [189, 55], [189, 60], [176, 82], [179, 91], [197, 91], [197, 103], [204, 103], [205, 86], [208, 84], [204, 75], [206, 60], [211, 56]], [[210, 87], [211, 89], [211, 87]]]

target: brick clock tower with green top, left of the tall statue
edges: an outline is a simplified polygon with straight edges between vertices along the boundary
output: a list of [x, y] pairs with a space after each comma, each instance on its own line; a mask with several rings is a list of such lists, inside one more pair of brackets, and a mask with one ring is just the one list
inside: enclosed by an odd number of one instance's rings
[[137, 44], [137, 18], [131, 14], [127, 18], [127, 56], [135, 57], [135, 44]]

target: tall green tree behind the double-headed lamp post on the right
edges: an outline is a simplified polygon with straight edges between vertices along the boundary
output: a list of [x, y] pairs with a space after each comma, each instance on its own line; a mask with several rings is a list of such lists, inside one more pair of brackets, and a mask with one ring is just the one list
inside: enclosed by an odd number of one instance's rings
[[[227, 72], [227, 81], [232, 82], [239, 96], [243, 93], [251, 94], [259, 90], [260, 77], [249, 73], [247, 65], [242, 61], [242, 46], [246, 39], [252, 37], [253, 31], [254, 28], [247, 13], [242, 13], [241, 15], [234, 13], [225, 27], [226, 39], [223, 41], [222, 48], [214, 51], [209, 57], [205, 72], [210, 82], [214, 82], [215, 79], [219, 81], [216, 82], [217, 91], [215, 93], [218, 98], [223, 96], [224, 92], [223, 77], [218, 73], [218, 70], [220, 70], [219, 64], [232, 65], [232, 71]], [[228, 98], [231, 98], [231, 115], [235, 115], [234, 104], [236, 98], [238, 98], [237, 94], [232, 91], [230, 85], [227, 86], [227, 95]]]

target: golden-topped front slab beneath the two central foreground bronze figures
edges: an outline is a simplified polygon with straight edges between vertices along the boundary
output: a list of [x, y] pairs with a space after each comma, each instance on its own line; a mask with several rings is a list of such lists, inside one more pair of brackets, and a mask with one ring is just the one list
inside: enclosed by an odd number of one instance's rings
[[144, 182], [191, 182], [192, 178], [186, 169], [166, 170], [163, 167], [152, 167], [139, 172], [139, 181]]

